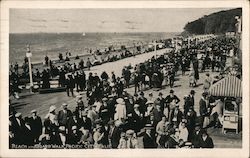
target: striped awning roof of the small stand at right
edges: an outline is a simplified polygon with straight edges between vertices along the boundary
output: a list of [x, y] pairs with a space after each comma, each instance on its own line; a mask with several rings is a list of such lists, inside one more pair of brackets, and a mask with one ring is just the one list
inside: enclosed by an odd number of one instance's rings
[[213, 96], [242, 97], [241, 80], [235, 76], [227, 76], [209, 88]]

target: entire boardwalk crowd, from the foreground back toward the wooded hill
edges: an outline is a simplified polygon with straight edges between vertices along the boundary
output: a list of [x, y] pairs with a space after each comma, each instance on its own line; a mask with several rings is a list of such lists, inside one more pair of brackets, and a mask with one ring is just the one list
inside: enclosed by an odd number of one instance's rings
[[[203, 83], [199, 105], [195, 105], [195, 91], [199, 73], [220, 71], [220, 79], [226, 69], [227, 55], [235, 52], [234, 40], [218, 38], [179, 51], [152, 57], [135, 67], [124, 67], [122, 76], [105, 71], [98, 76], [76, 64], [65, 64], [59, 69], [59, 85], [66, 87], [67, 95], [86, 91], [87, 102], [76, 97], [75, 110], [67, 104], [57, 111], [54, 105], [44, 119], [31, 111], [30, 117], [10, 113], [10, 148], [26, 145], [43, 148], [213, 148], [213, 140], [207, 128], [222, 125], [224, 98], [208, 94], [213, 84], [209, 73]], [[198, 50], [205, 50], [205, 57], [198, 59]], [[189, 72], [190, 93], [185, 95], [184, 105], [174, 93], [175, 76]], [[52, 69], [47, 72], [50, 76]], [[43, 73], [42, 77], [44, 77]], [[241, 74], [236, 74], [241, 77]], [[47, 79], [50, 78], [47, 76]], [[14, 78], [14, 77], [13, 77]], [[49, 84], [44, 82], [43, 84]], [[126, 88], [134, 86], [134, 94]], [[153, 97], [144, 90], [170, 87], [168, 95], [159, 93]], [[166, 96], [165, 96], [166, 95]], [[156, 99], [155, 99], [156, 98]], [[199, 111], [194, 110], [199, 106]], [[183, 107], [183, 108], [180, 108]], [[212, 119], [211, 119], [212, 118]], [[52, 145], [52, 147], [51, 147]]]

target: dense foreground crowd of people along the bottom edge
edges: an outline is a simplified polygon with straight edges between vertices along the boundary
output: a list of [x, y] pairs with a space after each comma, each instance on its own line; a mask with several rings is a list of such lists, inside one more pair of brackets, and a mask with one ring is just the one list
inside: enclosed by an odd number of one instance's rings
[[[159, 93], [156, 99], [146, 98], [143, 92], [131, 96], [123, 91], [119, 97], [109, 95], [93, 104], [85, 104], [82, 96], [77, 96], [75, 110], [69, 110], [66, 103], [59, 111], [52, 105], [44, 120], [36, 110], [24, 119], [21, 113], [13, 112], [9, 119], [10, 148], [213, 148], [206, 132], [209, 124], [203, 120], [211, 114], [208, 109], [212, 105], [221, 103], [211, 102], [204, 92], [200, 122], [194, 96], [191, 90], [184, 97], [184, 110], [180, 110], [180, 99], [170, 90], [166, 97]], [[214, 113], [221, 115], [219, 110]]]

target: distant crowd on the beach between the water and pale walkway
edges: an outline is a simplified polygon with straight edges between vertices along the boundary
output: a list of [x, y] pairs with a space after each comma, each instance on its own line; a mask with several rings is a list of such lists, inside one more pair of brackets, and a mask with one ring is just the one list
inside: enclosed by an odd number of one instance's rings
[[[163, 42], [165, 43], [164, 46], [157, 47], [156, 49], [163, 49], [168, 46], [168, 40], [158, 40], [157, 42]], [[147, 48], [146, 46], [135, 46], [134, 48], [126, 48], [124, 45], [121, 46], [121, 49], [114, 50], [113, 48], [109, 48], [108, 50], [105, 50], [101, 55], [98, 54], [98, 52], [92, 53], [92, 50], [90, 50], [90, 57], [86, 58], [86, 61], [77, 55], [75, 56], [75, 60], [79, 60], [79, 62], [71, 61], [74, 60], [71, 57], [70, 52], [66, 52], [66, 57], [63, 57], [63, 54], [59, 54], [59, 59], [56, 61], [52, 61], [49, 59], [49, 57], [46, 55], [44, 58], [44, 66], [42, 68], [33, 68], [31, 64], [32, 71], [32, 77], [33, 82], [35, 82], [35, 89], [49, 89], [51, 88], [51, 80], [57, 80], [59, 87], [66, 87], [66, 78], [68, 76], [68, 73], [73, 73], [75, 76], [75, 83], [78, 82], [78, 78], [81, 78], [83, 80], [83, 85], [86, 85], [86, 78], [84, 69], [90, 70], [90, 67], [103, 64], [106, 62], [113, 62], [117, 60], [121, 60], [127, 57], [135, 56], [142, 53], [147, 53], [153, 51], [150, 48]], [[21, 92], [20, 87], [26, 86], [27, 83], [29, 83], [29, 67], [28, 67], [28, 58], [24, 58], [24, 63], [22, 65], [22, 70], [20, 70], [20, 67], [18, 63], [10, 65], [10, 95], [13, 95], [15, 98], [19, 98], [18, 93]], [[79, 86], [78, 86], [79, 87]], [[34, 88], [34, 87], [33, 87]], [[83, 87], [84, 88], [84, 87]], [[81, 88], [81, 90], [83, 89]], [[79, 89], [77, 89], [78, 91]]]

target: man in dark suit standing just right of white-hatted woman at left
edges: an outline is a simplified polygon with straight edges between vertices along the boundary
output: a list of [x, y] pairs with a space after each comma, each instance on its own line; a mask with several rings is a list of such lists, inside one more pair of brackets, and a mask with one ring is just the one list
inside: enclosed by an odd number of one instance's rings
[[67, 108], [67, 104], [63, 103], [62, 110], [58, 113], [58, 123], [60, 126], [66, 126], [69, 118], [72, 117], [72, 112]]

